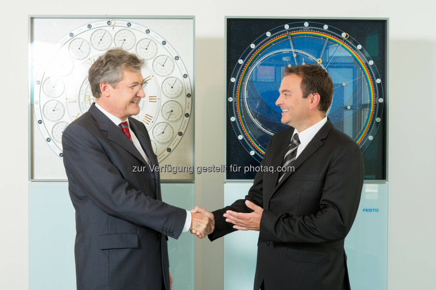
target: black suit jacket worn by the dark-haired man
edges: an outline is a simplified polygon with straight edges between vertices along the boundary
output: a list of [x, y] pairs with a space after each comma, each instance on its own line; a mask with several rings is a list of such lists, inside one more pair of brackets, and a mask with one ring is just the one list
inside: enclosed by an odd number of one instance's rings
[[[262, 166], [280, 167], [293, 128], [270, 140]], [[356, 216], [363, 185], [359, 146], [330, 122], [318, 131], [280, 183], [258, 172], [245, 199], [264, 209], [260, 221], [254, 290], [349, 289], [344, 238]], [[234, 231], [226, 210], [251, 212], [245, 200], [214, 211], [210, 240]]]

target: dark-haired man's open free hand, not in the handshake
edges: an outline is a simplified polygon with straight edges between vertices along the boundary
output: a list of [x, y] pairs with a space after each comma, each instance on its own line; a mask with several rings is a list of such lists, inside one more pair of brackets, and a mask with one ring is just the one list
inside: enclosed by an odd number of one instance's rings
[[245, 200], [245, 205], [252, 210], [252, 213], [237, 213], [227, 210], [223, 217], [228, 223], [233, 223], [237, 230], [260, 230], [260, 219], [262, 218], [263, 208], [255, 205], [249, 200]]

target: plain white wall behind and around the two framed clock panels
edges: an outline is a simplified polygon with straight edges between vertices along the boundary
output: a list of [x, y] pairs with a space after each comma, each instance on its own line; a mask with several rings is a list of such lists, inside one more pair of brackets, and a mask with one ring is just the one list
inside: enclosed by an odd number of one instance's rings
[[[285, 4], [289, 3], [289, 4]], [[195, 161], [224, 161], [224, 16], [390, 17], [388, 289], [436, 289], [435, 5], [409, 1], [8, 1], [0, 38], [0, 288], [28, 289], [27, 15], [195, 15]], [[9, 127], [12, 129], [9, 129]], [[221, 128], [211, 130], [212, 128]], [[223, 202], [223, 176], [196, 177], [196, 203]], [[222, 289], [222, 240], [196, 243], [196, 289]]]

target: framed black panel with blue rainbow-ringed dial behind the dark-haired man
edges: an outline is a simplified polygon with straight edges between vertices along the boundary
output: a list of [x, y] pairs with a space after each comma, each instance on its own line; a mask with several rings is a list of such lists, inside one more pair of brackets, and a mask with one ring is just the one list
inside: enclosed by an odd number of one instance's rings
[[387, 40], [387, 19], [226, 17], [226, 164], [240, 168], [226, 181], [254, 178], [287, 127], [275, 105], [283, 67], [304, 63], [330, 74], [327, 117], [360, 146], [365, 180], [387, 180]]

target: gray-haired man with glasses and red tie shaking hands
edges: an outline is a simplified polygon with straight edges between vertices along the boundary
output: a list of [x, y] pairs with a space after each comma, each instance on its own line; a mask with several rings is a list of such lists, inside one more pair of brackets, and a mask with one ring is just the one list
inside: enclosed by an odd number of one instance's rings
[[62, 136], [78, 290], [170, 290], [168, 237], [188, 230], [205, 237], [214, 228], [208, 217], [161, 200], [150, 137], [131, 118], [145, 97], [143, 65], [121, 48], [100, 56], [88, 74], [95, 103]]

